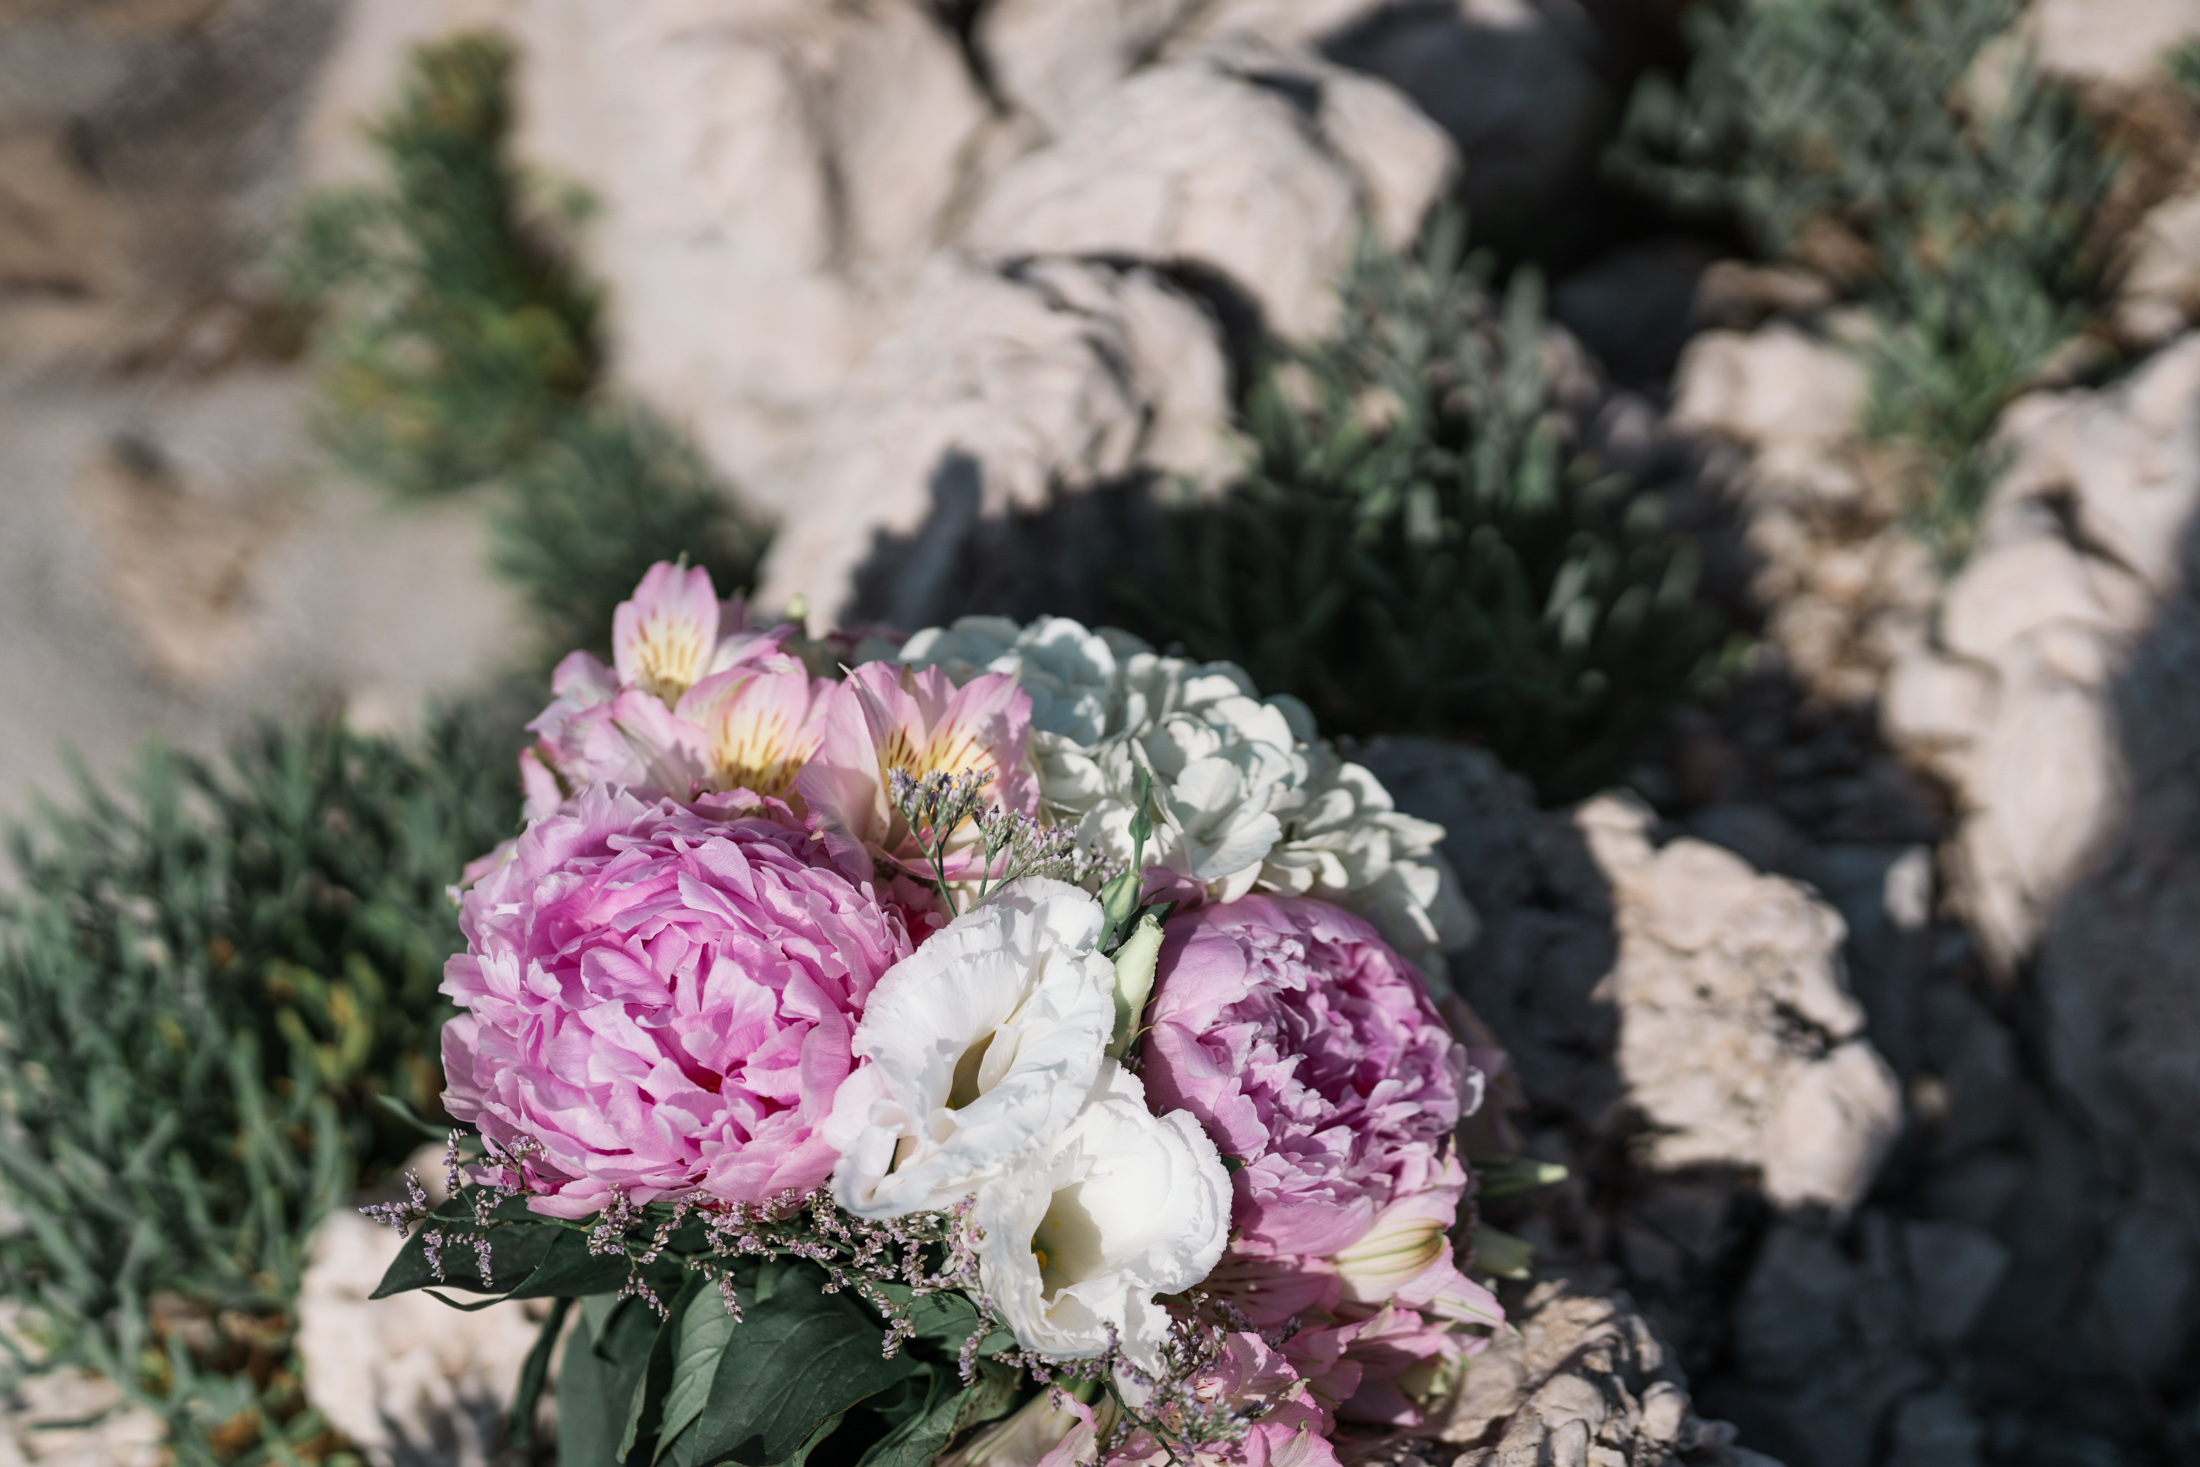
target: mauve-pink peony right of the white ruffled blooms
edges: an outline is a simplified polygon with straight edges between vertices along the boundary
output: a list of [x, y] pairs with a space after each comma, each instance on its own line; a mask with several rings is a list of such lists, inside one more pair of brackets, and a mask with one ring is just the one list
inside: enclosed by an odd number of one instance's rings
[[1327, 902], [1243, 897], [1166, 924], [1144, 1078], [1232, 1177], [1239, 1247], [1331, 1256], [1390, 1201], [1450, 1190], [1450, 1135], [1481, 1100], [1421, 979]]

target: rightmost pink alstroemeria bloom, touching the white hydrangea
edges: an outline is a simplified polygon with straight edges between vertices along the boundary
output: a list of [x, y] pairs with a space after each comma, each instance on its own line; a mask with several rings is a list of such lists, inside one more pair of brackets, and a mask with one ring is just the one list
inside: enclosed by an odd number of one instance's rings
[[[1010, 814], [1038, 814], [1038, 779], [1025, 759], [1032, 695], [1012, 673], [986, 673], [964, 686], [937, 666], [865, 662], [825, 706], [825, 739], [794, 781], [812, 816], [860, 840], [873, 856], [931, 875], [909, 820], [887, 794], [887, 776], [990, 774], [988, 801]], [[948, 878], [968, 869], [977, 831], [948, 834]]]

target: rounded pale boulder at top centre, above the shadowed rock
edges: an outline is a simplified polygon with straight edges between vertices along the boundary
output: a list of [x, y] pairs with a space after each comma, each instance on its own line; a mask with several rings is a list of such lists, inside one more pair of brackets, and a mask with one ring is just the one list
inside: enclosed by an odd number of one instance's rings
[[1335, 315], [1362, 222], [1399, 246], [1454, 167], [1379, 81], [1241, 40], [1137, 73], [1014, 163], [964, 244], [1199, 264], [1287, 337]]

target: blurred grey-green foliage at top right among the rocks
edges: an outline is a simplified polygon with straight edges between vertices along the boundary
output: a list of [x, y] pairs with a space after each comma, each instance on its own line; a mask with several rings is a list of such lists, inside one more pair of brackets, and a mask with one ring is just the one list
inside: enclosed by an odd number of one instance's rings
[[2088, 229], [2108, 158], [2070, 97], [1998, 42], [2015, 13], [1703, 4], [1685, 88], [1646, 77], [1617, 150], [1637, 185], [1863, 290], [1879, 317], [1868, 429], [1907, 453], [1910, 523], [1945, 559], [1967, 550], [1993, 477], [1993, 420], [2099, 286]]

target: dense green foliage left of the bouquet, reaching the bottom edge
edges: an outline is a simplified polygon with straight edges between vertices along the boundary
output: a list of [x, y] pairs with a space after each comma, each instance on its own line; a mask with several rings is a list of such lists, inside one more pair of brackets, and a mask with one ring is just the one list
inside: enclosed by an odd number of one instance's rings
[[510, 834], [513, 785], [480, 715], [418, 748], [271, 726], [13, 831], [0, 1287], [163, 1405], [185, 1460], [321, 1432], [284, 1364], [304, 1245], [420, 1144], [381, 1098], [440, 1115], [444, 886]]

